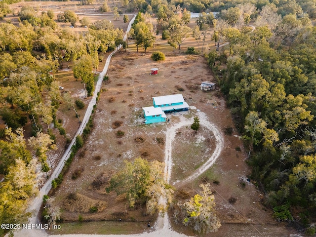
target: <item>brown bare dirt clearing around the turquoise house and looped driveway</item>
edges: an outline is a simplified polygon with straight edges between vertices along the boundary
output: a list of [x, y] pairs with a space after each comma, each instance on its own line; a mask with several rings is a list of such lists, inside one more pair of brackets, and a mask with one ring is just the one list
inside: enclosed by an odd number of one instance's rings
[[[80, 214], [84, 220], [121, 219], [141, 221], [146, 225], [147, 221], [153, 221], [155, 217], [144, 215], [144, 205], [139, 204], [135, 210], [128, 210], [123, 198], [116, 197], [113, 193], [106, 195], [104, 188], [111, 175], [122, 167], [123, 160], [132, 160], [141, 156], [149, 160], [163, 161], [163, 141], [167, 127], [177, 124], [180, 120], [179, 116], [193, 118], [196, 110], [182, 115], [168, 114], [169, 124], [143, 125], [140, 117], [141, 107], [151, 106], [153, 96], [182, 93], [187, 103], [204, 112], [218, 130], [223, 131], [226, 127], [233, 126], [232, 119], [224, 100], [216, 96], [217, 91], [199, 90], [198, 86], [202, 80], [212, 80], [205, 59], [201, 56], [170, 54], [167, 55], [166, 61], [157, 63], [148, 55], [118, 52], [112, 60], [109, 70], [110, 83], [103, 85], [106, 91], [101, 93], [98, 101], [93, 132], [89, 136], [88, 143], [76, 156], [67, 177], [64, 178], [63, 189], [57, 191], [56, 204], [63, 207], [65, 198], [77, 192], [90, 199], [103, 200], [108, 203], [108, 207], [96, 213], [64, 211], [64, 220], [76, 221]], [[158, 75], [149, 75], [153, 67], [159, 69]], [[181, 91], [179, 88], [182, 88]], [[177, 138], [173, 144], [177, 155], [173, 164], [175, 174], [172, 174], [172, 180], [190, 175], [202, 163], [203, 156], [208, 156], [205, 154], [208, 152], [207, 149], [210, 151], [213, 149], [215, 144], [212, 134], [204, 130], [203, 124], [196, 135], [193, 135], [190, 126], [179, 130], [181, 134], [176, 135], [179, 136], [179, 144], [176, 142]], [[118, 136], [122, 134], [118, 131], [123, 132], [123, 135]], [[245, 155], [242, 151], [236, 150], [237, 147], [242, 149], [242, 143], [237, 135], [236, 133], [232, 136], [225, 135], [224, 150], [215, 165], [199, 179], [183, 184], [180, 191], [195, 194], [198, 192], [197, 187], [200, 182], [212, 184], [222, 228], [211, 236], [229, 236], [232, 233], [230, 228], [235, 226], [237, 227], [234, 236], [246, 236], [248, 233], [257, 233], [259, 236], [260, 233], [265, 233], [265, 236], [286, 236], [289, 230], [284, 229], [283, 225], [280, 229], [272, 219], [271, 213], [263, 210], [259, 202], [262, 196], [253, 184], [246, 181], [248, 170], [244, 162]], [[196, 164], [188, 166], [192, 169], [186, 170], [188, 173], [183, 172], [181, 167], [181, 162], [190, 159], [190, 156], [184, 155], [185, 159], [181, 160], [180, 151], [181, 147], [185, 146], [185, 137], [199, 144], [205, 154], [203, 155], [198, 149], [194, 150], [195, 154], [192, 154], [191, 159]], [[191, 143], [188, 147], [194, 148], [194, 146]], [[80, 167], [84, 167], [84, 170], [77, 179], [72, 179], [73, 173]], [[228, 202], [230, 197], [236, 198], [235, 204]], [[238, 228], [239, 225], [243, 228]], [[262, 230], [257, 232], [254, 225], [262, 225]], [[262, 232], [265, 226], [274, 228], [268, 227], [268, 230]], [[194, 235], [182, 226], [173, 227], [177, 231]]]

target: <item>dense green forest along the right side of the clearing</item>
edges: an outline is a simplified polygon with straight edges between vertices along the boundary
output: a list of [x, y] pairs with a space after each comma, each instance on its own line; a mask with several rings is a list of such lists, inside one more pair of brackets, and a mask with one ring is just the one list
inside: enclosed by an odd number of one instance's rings
[[[291, 4], [292, 7], [289, 7]], [[316, 27], [302, 1], [223, 10], [207, 54], [248, 151], [251, 177], [277, 220], [315, 233]], [[312, 4], [313, 5], [313, 4]], [[303, 10], [304, 8], [304, 10]], [[311, 6], [311, 9], [313, 7]], [[255, 30], [245, 26], [248, 15]], [[219, 27], [221, 24], [221, 27]], [[227, 55], [229, 54], [229, 56]]]

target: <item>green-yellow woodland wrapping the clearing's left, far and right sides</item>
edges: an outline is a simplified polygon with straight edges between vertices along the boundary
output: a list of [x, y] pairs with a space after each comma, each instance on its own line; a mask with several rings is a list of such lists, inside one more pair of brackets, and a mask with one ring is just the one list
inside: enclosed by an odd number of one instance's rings
[[[10, 3], [0, 3], [1, 20], [11, 12]], [[154, 16], [162, 39], [173, 50], [193, 37], [198, 43], [195, 53], [205, 53], [205, 41], [215, 41], [217, 47], [206, 57], [243, 135], [251, 179], [264, 192], [265, 205], [277, 220], [315, 234], [316, 1], [122, 0], [113, 10], [119, 15], [120, 9], [139, 11], [127, 42], [122, 30], [107, 20], [90, 24], [82, 19], [81, 25], [89, 29], [79, 35], [59, 28], [53, 12], [38, 14], [27, 6], [14, 13], [19, 26], [0, 23], [0, 116], [7, 137], [0, 141], [0, 173], [5, 175], [0, 186], [1, 222], [25, 217], [25, 204], [37, 193], [34, 163], [40, 163], [42, 172], [49, 170], [46, 152], [54, 149], [54, 136], [48, 125], [54, 123], [62, 131], [56, 110], [61, 101], [73, 106], [60, 95], [56, 70], [74, 62], [74, 77], [82, 79], [92, 95], [92, 69], [98, 67], [102, 53], [121, 43], [128, 47], [130, 39], [145, 52], [155, 45], [157, 29], [146, 20]], [[107, 2], [100, 7], [102, 12], [109, 10]], [[190, 12], [202, 12], [193, 29], [187, 26]], [[65, 11], [57, 20], [74, 25], [78, 17]], [[220, 47], [223, 42], [228, 45]], [[28, 121], [33, 128], [32, 152], [26, 149], [20, 128]]]

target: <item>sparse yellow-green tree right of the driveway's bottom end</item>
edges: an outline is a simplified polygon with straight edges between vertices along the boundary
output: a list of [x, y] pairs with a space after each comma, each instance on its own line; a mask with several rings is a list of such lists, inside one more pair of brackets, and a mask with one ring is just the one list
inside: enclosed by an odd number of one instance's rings
[[202, 188], [201, 195], [196, 194], [181, 205], [181, 209], [187, 214], [183, 224], [192, 226], [198, 233], [216, 232], [221, 223], [214, 211], [215, 197], [208, 188], [209, 184], [201, 184], [199, 187]]

